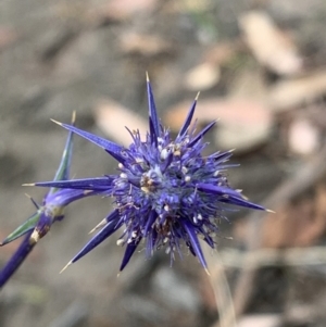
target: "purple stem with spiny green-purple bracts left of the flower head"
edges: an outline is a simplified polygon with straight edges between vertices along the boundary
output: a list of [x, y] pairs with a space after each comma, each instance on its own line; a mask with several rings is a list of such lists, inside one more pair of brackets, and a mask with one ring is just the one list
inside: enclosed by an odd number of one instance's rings
[[[75, 115], [73, 115], [72, 124], [74, 125]], [[73, 126], [72, 125], [72, 126]], [[70, 175], [71, 158], [73, 150], [73, 133], [70, 131], [67, 141], [62, 154], [62, 160], [54, 176], [54, 180], [66, 180]], [[23, 261], [27, 257], [36, 243], [48, 234], [53, 223], [62, 221], [64, 217], [64, 209], [67, 204], [85, 197], [98, 194], [101, 189], [93, 188], [92, 190], [83, 189], [60, 189], [57, 187], [50, 188], [49, 192], [43, 198], [41, 205], [37, 204], [33, 199], [33, 203], [37, 207], [24, 224], [11, 232], [0, 246], [8, 244], [13, 240], [25, 235], [23, 242], [20, 244], [13, 256], [0, 271], [0, 288], [15, 273]]]

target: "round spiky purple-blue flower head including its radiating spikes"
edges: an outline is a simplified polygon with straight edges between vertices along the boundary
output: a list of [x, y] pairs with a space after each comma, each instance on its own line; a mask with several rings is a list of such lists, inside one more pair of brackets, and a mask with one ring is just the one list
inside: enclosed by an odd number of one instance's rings
[[104, 239], [123, 227], [117, 244], [126, 250], [120, 269], [129, 262], [139, 246], [151, 257], [158, 249], [165, 248], [172, 261], [181, 255], [184, 244], [208, 269], [199, 242], [202, 238], [215, 248], [214, 236], [227, 204], [264, 210], [249, 202], [233, 189], [225, 176], [226, 162], [231, 151], [203, 156], [206, 147], [204, 135], [214, 126], [209, 124], [196, 134], [191, 127], [197, 99], [175, 139], [158, 117], [149, 79], [149, 133], [141, 138], [139, 130], [128, 130], [133, 142], [128, 148], [61, 124], [64, 128], [103, 148], [117, 161], [116, 175], [105, 175], [91, 180], [78, 179], [63, 183], [38, 183], [38, 186], [67, 187], [70, 189], [106, 188], [113, 198], [114, 210], [95, 228], [100, 228], [89, 242], [66, 265], [76, 262]]

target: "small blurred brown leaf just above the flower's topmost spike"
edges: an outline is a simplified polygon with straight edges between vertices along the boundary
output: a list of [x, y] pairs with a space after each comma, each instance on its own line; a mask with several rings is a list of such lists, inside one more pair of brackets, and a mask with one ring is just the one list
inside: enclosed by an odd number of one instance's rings
[[154, 56], [173, 51], [172, 45], [163, 38], [135, 32], [122, 35], [120, 46], [124, 53], [141, 54], [145, 56]]

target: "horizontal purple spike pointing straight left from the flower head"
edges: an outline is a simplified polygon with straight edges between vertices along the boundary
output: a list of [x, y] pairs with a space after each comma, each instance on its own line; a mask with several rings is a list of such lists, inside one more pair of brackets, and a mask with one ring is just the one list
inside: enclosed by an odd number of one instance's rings
[[70, 188], [79, 190], [106, 190], [111, 188], [113, 179], [113, 177], [95, 177], [59, 181], [40, 181], [35, 183], [34, 185], [40, 187]]

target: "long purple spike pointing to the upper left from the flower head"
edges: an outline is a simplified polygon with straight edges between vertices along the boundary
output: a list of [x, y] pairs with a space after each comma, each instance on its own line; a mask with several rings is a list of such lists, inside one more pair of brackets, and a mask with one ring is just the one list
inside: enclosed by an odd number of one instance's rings
[[59, 124], [60, 126], [66, 128], [67, 130], [71, 130], [82, 137], [84, 137], [85, 139], [87, 139], [88, 141], [97, 144], [98, 147], [104, 149], [106, 152], [109, 152], [111, 155], [114, 154], [115, 159], [120, 159], [120, 161], [124, 161], [123, 156], [121, 155], [121, 151], [123, 150], [123, 148], [112, 141], [109, 141], [102, 137], [96, 136], [91, 133], [85, 131], [83, 129], [79, 129], [75, 126], [72, 125], [67, 125], [67, 124], [62, 124], [59, 122], [53, 121], [54, 123]]

